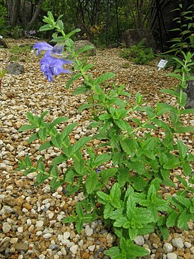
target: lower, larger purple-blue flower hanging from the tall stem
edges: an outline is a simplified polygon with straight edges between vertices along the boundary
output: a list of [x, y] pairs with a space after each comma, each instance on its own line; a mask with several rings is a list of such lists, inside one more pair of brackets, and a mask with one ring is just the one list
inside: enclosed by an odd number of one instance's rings
[[41, 71], [44, 73], [44, 76], [47, 76], [49, 82], [52, 82], [54, 75], [58, 76], [60, 73], [71, 73], [71, 71], [62, 67], [65, 64], [71, 63], [71, 61], [51, 56], [50, 51], [46, 52], [40, 60]]

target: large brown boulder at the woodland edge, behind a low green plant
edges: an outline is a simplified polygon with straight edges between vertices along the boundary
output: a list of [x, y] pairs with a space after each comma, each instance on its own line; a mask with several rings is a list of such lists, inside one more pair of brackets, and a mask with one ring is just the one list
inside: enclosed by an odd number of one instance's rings
[[150, 30], [143, 30], [143, 29], [129, 29], [123, 32], [120, 38], [120, 42], [126, 44], [126, 47], [129, 48], [133, 45], [137, 45], [140, 40], [145, 38], [145, 47], [152, 47], [156, 49], [156, 44], [154, 42], [154, 37]]

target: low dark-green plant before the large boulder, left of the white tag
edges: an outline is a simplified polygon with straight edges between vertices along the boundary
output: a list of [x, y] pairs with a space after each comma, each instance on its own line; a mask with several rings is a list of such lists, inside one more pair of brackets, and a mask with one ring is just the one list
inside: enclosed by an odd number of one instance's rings
[[149, 64], [154, 59], [154, 52], [151, 47], [144, 46], [145, 39], [140, 40], [137, 45], [121, 51], [121, 56], [131, 59], [135, 64]]

